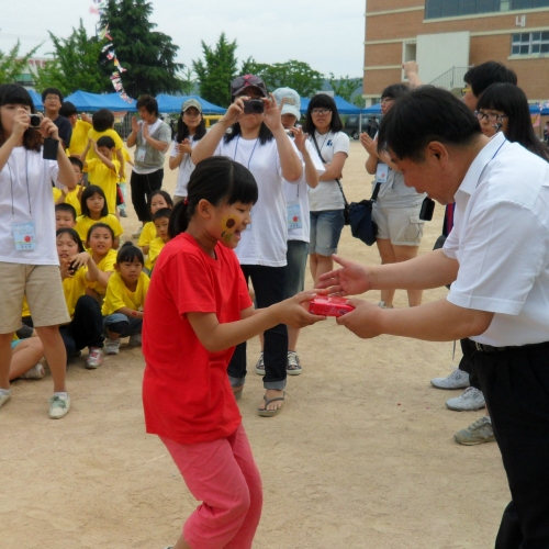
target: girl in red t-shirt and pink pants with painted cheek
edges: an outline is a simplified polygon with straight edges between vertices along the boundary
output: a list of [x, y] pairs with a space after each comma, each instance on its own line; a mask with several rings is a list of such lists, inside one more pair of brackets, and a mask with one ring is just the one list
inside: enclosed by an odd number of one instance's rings
[[172, 549], [246, 549], [259, 524], [261, 479], [227, 365], [237, 344], [281, 322], [314, 324], [302, 292], [255, 310], [233, 249], [250, 223], [254, 176], [226, 157], [201, 161], [170, 219], [143, 325], [147, 433], [160, 437], [203, 503]]

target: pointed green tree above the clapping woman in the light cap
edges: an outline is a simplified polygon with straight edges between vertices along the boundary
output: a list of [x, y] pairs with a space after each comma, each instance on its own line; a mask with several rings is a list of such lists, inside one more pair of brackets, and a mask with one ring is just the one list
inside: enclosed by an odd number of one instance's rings
[[215, 49], [202, 41], [204, 60], [192, 61], [192, 68], [198, 76], [200, 96], [211, 103], [228, 107], [231, 103], [231, 81], [237, 76], [236, 41], [227, 42], [222, 33]]

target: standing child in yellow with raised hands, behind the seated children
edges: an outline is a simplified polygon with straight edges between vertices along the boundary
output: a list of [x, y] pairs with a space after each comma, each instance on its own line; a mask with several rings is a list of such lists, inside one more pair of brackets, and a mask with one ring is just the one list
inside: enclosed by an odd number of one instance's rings
[[108, 135], [100, 137], [97, 143], [88, 139], [85, 153], [90, 147], [97, 158], [83, 161], [83, 169], [88, 172], [90, 184], [97, 184], [103, 189], [107, 197], [109, 213], [116, 214], [116, 183], [119, 182], [120, 163], [114, 159], [114, 141]]

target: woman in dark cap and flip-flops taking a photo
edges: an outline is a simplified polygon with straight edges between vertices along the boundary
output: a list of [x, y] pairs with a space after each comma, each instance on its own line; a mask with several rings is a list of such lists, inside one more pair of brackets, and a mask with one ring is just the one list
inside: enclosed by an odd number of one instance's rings
[[[261, 78], [254, 75], [236, 78], [231, 82], [231, 96], [233, 103], [227, 112], [194, 145], [191, 157], [198, 165], [210, 156], [227, 156], [246, 166], [257, 181], [259, 199], [235, 253], [246, 280], [254, 284], [257, 306], [262, 309], [283, 299], [288, 240], [283, 182], [299, 182], [303, 165], [282, 126], [280, 105], [267, 93]], [[265, 365], [266, 393], [258, 410], [260, 416], [280, 412], [287, 360], [288, 330], [284, 324], [278, 324], [265, 332], [265, 352], [257, 365], [260, 372]], [[246, 343], [236, 347], [228, 377], [239, 396], [246, 380]]]

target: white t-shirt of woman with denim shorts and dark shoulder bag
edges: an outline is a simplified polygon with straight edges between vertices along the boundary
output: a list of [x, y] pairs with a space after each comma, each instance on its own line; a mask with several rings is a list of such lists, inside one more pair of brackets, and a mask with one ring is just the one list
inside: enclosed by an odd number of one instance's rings
[[[349, 156], [349, 136], [343, 132], [328, 132], [327, 134], [314, 133], [316, 143], [321, 149], [321, 155], [326, 164], [330, 164], [336, 153], [345, 153]], [[309, 141], [314, 146], [313, 137]], [[312, 212], [323, 212], [325, 210], [343, 210], [345, 202], [335, 179], [329, 181], [320, 181], [316, 189], [309, 192], [309, 205]]]

